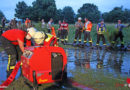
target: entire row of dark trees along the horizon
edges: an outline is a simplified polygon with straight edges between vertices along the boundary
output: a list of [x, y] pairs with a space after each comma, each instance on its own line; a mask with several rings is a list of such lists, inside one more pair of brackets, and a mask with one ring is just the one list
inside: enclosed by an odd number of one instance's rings
[[[1, 17], [3, 16], [0, 12], [0, 19]], [[16, 4], [15, 17], [22, 20], [29, 18], [35, 22], [41, 19], [48, 22], [50, 18], [53, 18], [55, 23], [65, 19], [68, 23], [72, 24], [75, 23], [78, 17], [87, 17], [93, 23], [99, 22], [100, 19], [104, 19], [105, 22], [110, 23], [117, 22], [120, 19], [128, 23], [130, 22], [130, 9], [124, 9], [121, 6], [115, 7], [109, 12], [101, 13], [96, 5], [85, 3], [78, 9], [76, 14], [70, 6], [57, 9], [55, 0], [36, 0], [32, 2], [31, 6], [21, 1]]]

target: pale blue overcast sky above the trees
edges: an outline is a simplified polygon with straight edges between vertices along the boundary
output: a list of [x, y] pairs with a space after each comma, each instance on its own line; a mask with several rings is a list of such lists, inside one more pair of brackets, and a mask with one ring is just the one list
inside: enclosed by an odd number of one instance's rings
[[[35, 0], [0, 0], [0, 10], [7, 19], [14, 18], [16, 4], [19, 1], [25, 1], [27, 5], [31, 5]], [[75, 13], [84, 3], [93, 3], [98, 6], [101, 12], [108, 12], [116, 6], [123, 6], [130, 9], [130, 0], [55, 0], [57, 8], [71, 6]]]

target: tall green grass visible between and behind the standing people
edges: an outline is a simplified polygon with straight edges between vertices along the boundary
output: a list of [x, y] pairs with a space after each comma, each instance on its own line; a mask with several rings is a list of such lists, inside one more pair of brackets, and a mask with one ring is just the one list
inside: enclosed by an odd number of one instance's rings
[[[96, 26], [97, 26], [97, 24], [93, 24], [92, 31], [91, 31], [91, 37], [92, 37], [94, 44], [96, 44], [96, 41], [97, 41]], [[35, 27], [39, 31], [47, 32], [47, 28], [42, 29], [40, 23], [36, 23]], [[56, 33], [57, 33], [58, 32], [58, 30], [57, 30], [58, 25], [54, 25], [54, 27], [55, 27], [55, 30], [56, 30]], [[106, 27], [107, 27], [107, 32], [105, 32], [104, 34], [105, 34], [106, 42], [107, 42], [107, 44], [109, 44], [114, 39], [114, 33], [116, 32], [116, 29], [115, 29], [115, 24], [106, 24]], [[123, 29], [123, 35], [124, 35], [125, 45], [130, 44], [130, 39], [129, 39], [130, 38], [130, 28], [124, 28]], [[70, 24], [69, 25], [68, 42], [73, 43], [74, 37], [75, 37], [75, 26], [74, 26], [74, 24]], [[84, 40], [84, 35], [82, 33], [82, 42], [83, 42], [83, 40]], [[120, 43], [119, 41], [120, 40], [118, 39], [117, 44]]]

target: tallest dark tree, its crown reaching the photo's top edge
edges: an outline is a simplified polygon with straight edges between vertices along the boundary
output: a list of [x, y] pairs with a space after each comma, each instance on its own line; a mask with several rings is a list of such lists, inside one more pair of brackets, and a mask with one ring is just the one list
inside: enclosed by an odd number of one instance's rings
[[49, 21], [50, 18], [55, 17], [57, 10], [55, 0], [36, 0], [32, 4], [33, 20], [37, 21], [44, 18], [45, 21]]

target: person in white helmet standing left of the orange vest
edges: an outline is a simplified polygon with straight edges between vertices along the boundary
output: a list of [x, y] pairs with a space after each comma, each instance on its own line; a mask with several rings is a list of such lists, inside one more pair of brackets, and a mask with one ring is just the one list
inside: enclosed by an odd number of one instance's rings
[[81, 22], [82, 18], [79, 17], [78, 21], [75, 23], [75, 27], [76, 27], [76, 32], [75, 32], [75, 39], [73, 44], [75, 44], [77, 42], [77, 38], [79, 38], [79, 43], [81, 43], [81, 34], [82, 34], [82, 29], [83, 29], [83, 23]]

